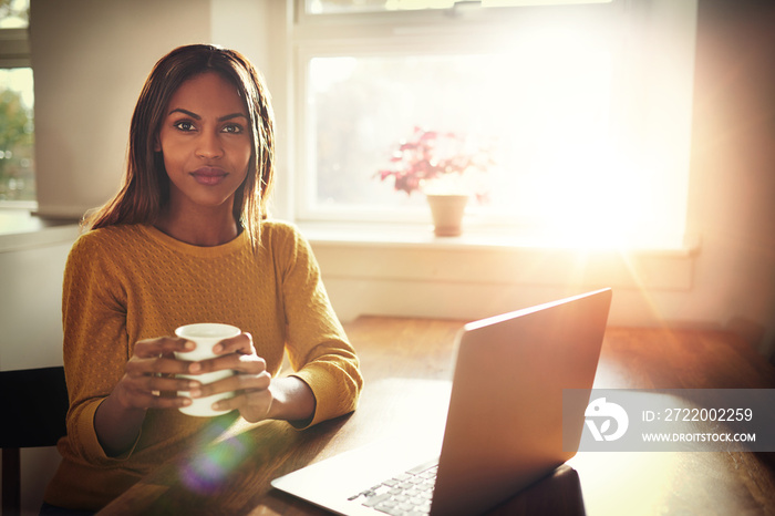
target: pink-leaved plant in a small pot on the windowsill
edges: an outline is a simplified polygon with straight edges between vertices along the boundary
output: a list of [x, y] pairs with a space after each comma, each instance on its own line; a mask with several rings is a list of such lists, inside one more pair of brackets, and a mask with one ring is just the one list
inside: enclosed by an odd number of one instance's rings
[[390, 167], [378, 172], [381, 180], [393, 179], [396, 190], [427, 197], [437, 236], [461, 234], [463, 214], [471, 196], [487, 199], [486, 174], [494, 165], [488, 148], [474, 146], [456, 133], [415, 127], [401, 142]]

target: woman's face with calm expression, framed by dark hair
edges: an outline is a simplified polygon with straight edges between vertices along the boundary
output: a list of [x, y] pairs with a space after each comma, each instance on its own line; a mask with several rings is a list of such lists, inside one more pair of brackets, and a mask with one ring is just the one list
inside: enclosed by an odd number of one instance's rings
[[155, 148], [169, 176], [169, 209], [231, 213], [251, 148], [250, 118], [232, 83], [215, 72], [184, 82], [169, 100]]

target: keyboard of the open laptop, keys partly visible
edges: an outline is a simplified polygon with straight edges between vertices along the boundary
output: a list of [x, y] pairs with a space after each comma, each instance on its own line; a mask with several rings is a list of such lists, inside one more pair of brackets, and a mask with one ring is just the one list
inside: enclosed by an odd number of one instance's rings
[[[348, 498], [391, 516], [426, 515], [431, 512], [438, 460], [421, 464]], [[360, 498], [360, 499], [359, 499]]]

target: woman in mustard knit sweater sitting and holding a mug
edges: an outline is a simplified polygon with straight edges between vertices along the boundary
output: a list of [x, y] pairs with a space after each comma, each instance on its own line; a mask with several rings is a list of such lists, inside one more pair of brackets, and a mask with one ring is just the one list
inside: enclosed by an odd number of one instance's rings
[[[132, 118], [118, 194], [86, 219], [64, 275], [70, 393], [62, 464], [42, 513], [97, 510], [192, 442], [177, 409], [218, 392], [249, 422], [303, 429], [354, 410], [362, 378], [306, 240], [267, 219], [269, 95], [239, 53], [182, 47], [152, 71]], [[218, 357], [176, 360], [195, 322], [242, 333]], [[283, 351], [296, 371], [278, 378]], [[176, 374], [234, 370], [203, 385]]]

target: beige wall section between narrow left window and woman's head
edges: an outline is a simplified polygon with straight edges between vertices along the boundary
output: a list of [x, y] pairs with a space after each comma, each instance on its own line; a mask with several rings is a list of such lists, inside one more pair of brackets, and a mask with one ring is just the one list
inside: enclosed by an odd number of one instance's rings
[[34, 0], [30, 33], [40, 213], [80, 217], [116, 190], [154, 63], [210, 42], [210, 0]]

